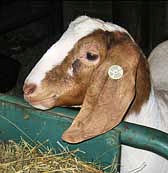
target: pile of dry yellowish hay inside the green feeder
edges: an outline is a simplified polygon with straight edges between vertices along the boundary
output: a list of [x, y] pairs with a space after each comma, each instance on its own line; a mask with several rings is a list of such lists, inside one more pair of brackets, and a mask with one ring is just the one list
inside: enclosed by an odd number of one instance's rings
[[100, 167], [76, 157], [79, 149], [53, 154], [53, 149], [42, 151], [44, 145], [34, 147], [21, 140], [0, 143], [0, 173], [102, 173]]

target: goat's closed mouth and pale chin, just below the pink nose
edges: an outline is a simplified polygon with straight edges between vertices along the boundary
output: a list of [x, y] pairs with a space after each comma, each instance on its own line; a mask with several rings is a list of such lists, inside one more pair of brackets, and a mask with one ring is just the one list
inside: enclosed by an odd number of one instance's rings
[[52, 107], [55, 106], [55, 102], [57, 97], [56, 96], [50, 96], [48, 98], [43, 98], [43, 99], [34, 99], [31, 97], [27, 97], [24, 95], [24, 99], [33, 107], [37, 109], [42, 109], [42, 110], [47, 110], [51, 109]]

